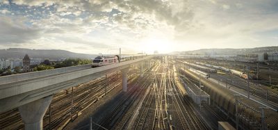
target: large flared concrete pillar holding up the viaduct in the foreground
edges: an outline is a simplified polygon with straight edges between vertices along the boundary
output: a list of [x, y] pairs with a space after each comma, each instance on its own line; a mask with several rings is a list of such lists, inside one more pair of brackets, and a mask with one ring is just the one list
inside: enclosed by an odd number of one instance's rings
[[19, 113], [25, 124], [25, 129], [42, 129], [42, 122], [45, 112], [51, 103], [52, 96], [44, 97], [36, 101], [30, 102], [23, 106], [19, 106]]

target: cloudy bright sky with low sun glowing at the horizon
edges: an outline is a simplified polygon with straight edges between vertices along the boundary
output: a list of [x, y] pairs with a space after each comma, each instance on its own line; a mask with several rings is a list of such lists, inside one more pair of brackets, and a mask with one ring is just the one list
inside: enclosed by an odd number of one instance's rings
[[278, 45], [277, 0], [0, 0], [0, 49], [152, 54]]

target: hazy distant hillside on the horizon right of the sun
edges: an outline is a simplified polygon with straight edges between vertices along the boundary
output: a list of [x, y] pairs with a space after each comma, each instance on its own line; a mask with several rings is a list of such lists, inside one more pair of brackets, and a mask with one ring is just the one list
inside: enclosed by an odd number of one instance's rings
[[261, 54], [264, 52], [277, 51], [278, 46], [275, 47], [256, 47], [249, 49], [198, 49], [195, 51], [179, 51], [174, 54], [193, 54], [193, 55], [237, 55], [237, 54]]

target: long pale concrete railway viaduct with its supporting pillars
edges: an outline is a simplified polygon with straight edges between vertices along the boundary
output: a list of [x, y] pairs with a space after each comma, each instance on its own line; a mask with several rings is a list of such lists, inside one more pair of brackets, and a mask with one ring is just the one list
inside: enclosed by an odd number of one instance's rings
[[129, 67], [140, 65], [143, 76], [143, 64], [150, 64], [152, 57], [96, 68], [80, 65], [0, 77], [0, 112], [18, 107], [25, 129], [42, 129], [42, 118], [56, 92], [118, 70], [122, 72], [122, 89], [126, 92]]

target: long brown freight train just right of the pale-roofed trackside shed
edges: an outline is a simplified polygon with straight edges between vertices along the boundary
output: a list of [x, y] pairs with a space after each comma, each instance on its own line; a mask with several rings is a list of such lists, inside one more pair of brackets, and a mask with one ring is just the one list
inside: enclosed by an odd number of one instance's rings
[[[193, 79], [193, 82], [198, 83], [199, 76], [194, 74], [193, 72], [186, 72], [186, 70], [181, 70], [181, 74], [186, 74], [187, 77]], [[217, 83], [212, 83], [209, 80], [201, 80], [202, 85], [204, 86], [204, 91], [211, 96], [212, 103], [214, 105], [219, 106], [223, 110], [223, 112], [227, 115], [227, 117], [231, 117], [231, 120], [236, 121], [236, 100], [233, 92], [228, 90], [227, 88], [223, 88], [218, 86]], [[238, 105], [237, 109], [240, 113], [239, 120], [240, 125], [243, 126], [243, 129], [260, 129], [260, 120], [261, 113], [255, 113], [254, 110], [260, 110], [256, 102], [246, 99], [244, 97], [238, 97], [240, 101], [244, 101], [245, 104], [249, 104], [251, 108], [247, 108], [242, 104]], [[270, 109], [266, 109], [264, 111], [266, 120], [265, 124], [267, 124], [267, 129], [277, 129], [278, 128], [278, 113], [276, 111], [272, 111]], [[244, 122], [243, 122], [244, 121]]]

